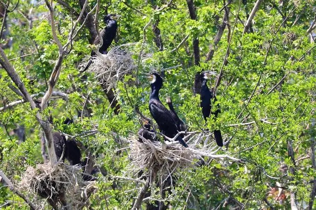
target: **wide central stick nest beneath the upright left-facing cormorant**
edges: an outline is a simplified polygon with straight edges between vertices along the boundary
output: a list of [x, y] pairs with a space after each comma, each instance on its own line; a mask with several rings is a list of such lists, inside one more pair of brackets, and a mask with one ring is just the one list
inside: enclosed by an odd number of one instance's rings
[[178, 141], [161, 143], [142, 138], [143, 143], [140, 143], [135, 137], [129, 140], [132, 166], [139, 171], [155, 169], [161, 175], [171, 176], [180, 168], [196, 168], [204, 164], [204, 157], [240, 161], [227, 154], [216, 154], [221, 148], [216, 146], [210, 133], [191, 132], [184, 138], [189, 148], [183, 147]]

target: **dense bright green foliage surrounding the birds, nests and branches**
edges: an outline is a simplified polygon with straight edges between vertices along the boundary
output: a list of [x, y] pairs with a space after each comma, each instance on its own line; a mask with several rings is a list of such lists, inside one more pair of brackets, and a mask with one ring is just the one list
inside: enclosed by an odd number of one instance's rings
[[[86, 25], [79, 30], [72, 50], [62, 62], [54, 90], [67, 93], [67, 98], [51, 96], [43, 115], [51, 116], [54, 130], [69, 135], [96, 130], [92, 135], [77, 137], [87, 149], [82, 153], [91, 152], [97, 167], [106, 171], [97, 175], [98, 190], [89, 199], [90, 207], [132, 208], [142, 183], [113, 177], [137, 179], [129, 171], [132, 160], [124, 139], [135, 136], [142, 126], [136, 107], [151, 117], [150, 86], [145, 73], [157, 71], [164, 75], [161, 101], [164, 103], [165, 96], [171, 96], [190, 131], [220, 128], [224, 142], [229, 143], [217, 153], [242, 160], [208, 159], [205, 166], [178, 171], [176, 185], [167, 197], [172, 208], [293, 209], [290, 200], [294, 198], [297, 208], [315, 209], [316, 204], [310, 201], [315, 197], [313, 187], [316, 189], [316, 45], [314, 29], [309, 30], [315, 24], [315, 1], [259, 1], [259, 9], [245, 32], [244, 26], [257, 1], [193, 0], [196, 20], [190, 17], [190, 0], [187, 2], [101, 0], [99, 29], [105, 27], [102, 20], [106, 13], [122, 15], [112, 47], [133, 43], [128, 49], [137, 65], [113, 89], [120, 105], [118, 114], [95, 75], [79, 73], [95, 47], [89, 44], [91, 33]], [[96, 3], [89, 0], [87, 10]], [[1, 47], [40, 104], [58, 59], [58, 46], [44, 2], [12, 0], [9, 10], [15, 4], [17, 7], [7, 13]], [[56, 0], [53, 5], [57, 36], [65, 44], [78, 18], [76, 14], [81, 11], [79, 1]], [[228, 20], [223, 21], [227, 11]], [[215, 37], [220, 38], [219, 42]], [[196, 38], [199, 61], [193, 50]], [[214, 54], [206, 59], [211, 49]], [[216, 103], [221, 113], [217, 120], [208, 120], [206, 126], [199, 95], [193, 92], [195, 75], [202, 70], [220, 73]], [[216, 79], [209, 82], [209, 87], [215, 86]], [[27, 166], [43, 162], [42, 130], [29, 103], [10, 104], [22, 99], [12, 91], [12, 85], [1, 68], [0, 169], [18, 183]], [[75, 119], [75, 123], [63, 125], [66, 117]], [[13, 132], [21, 127], [25, 129], [24, 142]], [[2, 185], [1, 207], [29, 208]]]

